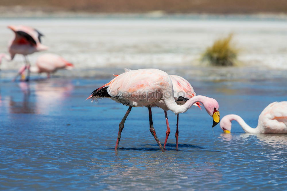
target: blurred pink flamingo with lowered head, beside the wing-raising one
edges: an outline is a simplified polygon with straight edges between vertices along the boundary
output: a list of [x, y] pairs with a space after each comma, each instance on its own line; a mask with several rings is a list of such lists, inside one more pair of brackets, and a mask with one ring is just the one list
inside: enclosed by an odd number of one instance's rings
[[[74, 67], [73, 64], [66, 61], [64, 58], [57, 54], [45, 53], [40, 55], [36, 60], [36, 67], [30, 68], [32, 73], [47, 73], [47, 78], [50, 78], [50, 74], [56, 72], [58, 69], [70, 70]], [[20, 68], [18, 75], [22, 75], [26, 69], [26, 66]], [[14, 80], [18, 77], [14, 78]]]

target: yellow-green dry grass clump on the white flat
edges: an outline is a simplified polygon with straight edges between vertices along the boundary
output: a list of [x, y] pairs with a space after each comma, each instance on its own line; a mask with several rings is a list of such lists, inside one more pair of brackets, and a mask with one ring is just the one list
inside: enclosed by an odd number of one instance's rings
[[202, 55], [202, 61], [207, 61], [212, 66], [234, 66], [238, 49], [231, 44], [233, 34], [216, 40]]

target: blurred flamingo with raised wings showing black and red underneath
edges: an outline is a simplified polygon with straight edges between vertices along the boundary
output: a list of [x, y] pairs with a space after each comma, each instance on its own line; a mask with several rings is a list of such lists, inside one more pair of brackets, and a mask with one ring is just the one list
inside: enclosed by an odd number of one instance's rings
[[28, 70], [26, 81], [29, 81], [30, 77], [30, 63], [28, 61], [27, 55], [34, 52], [47, 50], [48, 47], [41, 44], [41, 34], [38, 30], [28, 27], [28, 26], [8, 26], [15, 33], [15, 38], [11, 40], [8, 45], [9, 55], [0, 56], [5, 57], [7, 60], [11, 61], [15, 57], [15, 54], [22, 54], [25, 61], [25, 70]]

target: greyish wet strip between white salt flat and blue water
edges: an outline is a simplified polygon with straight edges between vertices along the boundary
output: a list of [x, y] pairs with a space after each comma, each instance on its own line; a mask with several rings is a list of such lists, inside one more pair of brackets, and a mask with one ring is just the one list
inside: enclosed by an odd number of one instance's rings
[[[96, 67], [73, 69], [72, 71], [57, 71], [54, 78], [66, 79], [112, 79], [113, 74], [124, 73], [125, 67]], [[180, 75], [189, 81], [274, 81], [286, 80], [286, 70], [260, 69], [259, 67], [163, 67], [163, 66], [133, 66], [132, 70], [142, 68], [157, 68], [171, 75]], [[17, 70], [1, 70], [0, 81], [11, 81]], [[32, 74], [32, 80], [45, 79], [46, 74]]]

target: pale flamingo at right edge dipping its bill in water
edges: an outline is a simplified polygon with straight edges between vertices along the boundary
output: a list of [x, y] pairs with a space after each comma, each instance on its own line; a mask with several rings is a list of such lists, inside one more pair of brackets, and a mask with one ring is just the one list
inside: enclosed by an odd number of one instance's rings
[[230, 114], [222, 118], [220, 128], [224, 132], [231, 132], [231, 121], [236, 120], [247, 133], [287, 134], [287, 102], [273, 102], [259, 115], [256, 128], [250, 127], [238, 115]]

